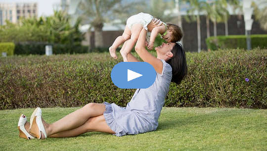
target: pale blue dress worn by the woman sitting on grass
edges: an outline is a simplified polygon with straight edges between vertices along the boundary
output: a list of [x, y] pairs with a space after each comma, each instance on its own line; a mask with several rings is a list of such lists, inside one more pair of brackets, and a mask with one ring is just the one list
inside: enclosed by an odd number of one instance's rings
[[137, 89], [126, 107], [104, 102], [104, 117], [116, 136], [155, 131], [172, 79], [172, 67], [163, 62], [162, 74], [156, 72], [155, 82], [146, 89]]

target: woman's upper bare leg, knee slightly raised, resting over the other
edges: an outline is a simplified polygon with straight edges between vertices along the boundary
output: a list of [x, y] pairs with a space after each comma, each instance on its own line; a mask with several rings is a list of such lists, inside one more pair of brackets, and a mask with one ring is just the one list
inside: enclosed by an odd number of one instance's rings
[[88, 121], [90, 117], [103, 115], [104, 111], [104, 104], [89, 103], [52, 124], [48, 124], [43, 120], [46, 135], [50, 136], [62, 131], [72, 130], [77, 127], [80, 127], [86, 121]]

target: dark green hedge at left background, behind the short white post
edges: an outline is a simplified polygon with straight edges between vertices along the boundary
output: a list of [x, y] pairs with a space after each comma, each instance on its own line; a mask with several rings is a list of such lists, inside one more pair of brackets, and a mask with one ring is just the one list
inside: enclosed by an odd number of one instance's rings
[[45, 46], [52, 45], [53, 54], [64, 54], [64, 53], [87, 53], [87, 46], [70, 46], [64, 44], [48, 44], [48, 43], [16, 43], [15, 54], [45, 54]]

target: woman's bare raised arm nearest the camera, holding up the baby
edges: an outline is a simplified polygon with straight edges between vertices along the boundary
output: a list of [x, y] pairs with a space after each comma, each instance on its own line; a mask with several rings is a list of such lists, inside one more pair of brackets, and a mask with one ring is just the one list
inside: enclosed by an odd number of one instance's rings
[[136, 42], [134, 49], [143, 61], [151, 64], [154, 67], [154, 69], [156, 70], [156, 72], [161, 74], [162, 69], [163, 69], [163, 63], [160, 59], [154, 57], [152, 54], [150, 54], [145, 49], [145, 40], [146, 40], [146, 30], [142, 29], [140, 34], [139, 34], [139, 37], [138, 37], [138, 40]]

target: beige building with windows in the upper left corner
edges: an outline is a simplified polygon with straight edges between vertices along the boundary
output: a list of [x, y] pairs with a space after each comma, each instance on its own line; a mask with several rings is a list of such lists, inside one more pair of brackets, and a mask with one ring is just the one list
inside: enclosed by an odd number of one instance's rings
[[38, 4], [33, 3], [0, 3], [0, 25], [5, 25], [6, 20], [17, 23], [23, 18], [37, 17]]

